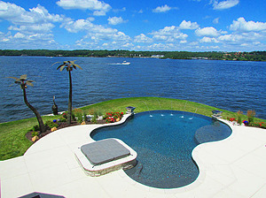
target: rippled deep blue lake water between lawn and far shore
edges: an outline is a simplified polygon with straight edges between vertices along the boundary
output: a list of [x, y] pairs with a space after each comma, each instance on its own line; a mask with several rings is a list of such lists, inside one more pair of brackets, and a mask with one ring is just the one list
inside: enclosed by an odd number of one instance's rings
[[[172, 60], [113, 57], [0, 57], [0, 122], [34, 117], [13, 80], [27, 74], [35, 80], [27, 100], [39, 112], [51, 113], [53, 95], [59, 111], [67, 110], [68, 74], [55, 62], [76, 60], [74, 108], [121, 97], [160, 96], [204, 103], [224, 110], [255, 110], [266, 119], [266, 62]], [[131, 65], [112, 65], [128, 61]]]

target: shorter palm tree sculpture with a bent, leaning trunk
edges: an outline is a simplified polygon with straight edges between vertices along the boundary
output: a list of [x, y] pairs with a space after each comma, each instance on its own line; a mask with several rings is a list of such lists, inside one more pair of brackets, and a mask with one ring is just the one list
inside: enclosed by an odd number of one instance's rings
[[[27, 102], [27, 95], [26, 95], [26, 88], [27, 85], [33, 86], [33, 80], [27, 80], [27, 75], [21, 75], [20, 79], [16, 77], [7, 77], [15, 80], [15, 84], [20, 85], [20, 88], [23, 90], [23, 95], [24, 95], [24, 102], [27, 104], [27, 107], [32, 110], [35, 113], [35, 116], [38, 120], [39, 126], [40, 126], [40, 131], [41, 133], [44, 133], [46, 131], [45, 126], [43, 125], [43, 118], [41, 117], [40, 113], [32, 106], [30, 103]], [[13, 84], [12, 84], [13, 85]], [[11, 85], [11, 86], [12, 86]]]

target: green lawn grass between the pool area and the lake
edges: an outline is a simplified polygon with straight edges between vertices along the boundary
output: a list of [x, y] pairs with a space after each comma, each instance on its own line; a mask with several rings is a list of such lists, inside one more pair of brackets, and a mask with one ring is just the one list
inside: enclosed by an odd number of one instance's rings
[[[161, 97], [120, 98], [85, 106], [82, 107], [81, 110], [87, 114], [94, 114], [96, 112], [98, 114], [106, 114], [106, 112], [110, 111], [125, 112], [127, 106], [136, 107], [135, 112], [147, 110], [184, 110], [195, 112], [195, 110], [197, 110], [198, 114], [205, 115], [207, 117], [211, 117], [212, 110], [222, 110], [201, 103], [186, 102], [184, 100]], [[229, 110], [222, 111], [223, 118], [237, 118], [237, 112], [231, 112]], [[60, 116], [43, 116], [43, 122], [45, 123], [48, 120], [53, 120], [59, 117]], [[243, 120], [244, 119], [247, 119], [247, 117], [243, 116]], [[260, 122], [266, 120], [255, 118], [254, 121]], [[27, 118], [0, 124], [0, 160], [22, 156], [26, 152], [27, 148], [32, 145], [32, 142], [27, 140], [25, 134], [37, 124], [36, 118]]]

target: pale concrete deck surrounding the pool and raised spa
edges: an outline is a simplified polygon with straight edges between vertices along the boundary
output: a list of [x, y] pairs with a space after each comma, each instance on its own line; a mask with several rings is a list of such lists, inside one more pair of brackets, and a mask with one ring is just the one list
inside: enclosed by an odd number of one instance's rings
[[229, 138], [193, 149], [200, 175], [191, 185], [146, 187], [122, 170], [87, 176], [74, 150], [92, 142], [90, 132], [102, 125], [71, 126], [35, 142], [24, 156], [1, 161], [0, 197], [34, 192], [59, 197], [266, 197], [266, 130], [224, 122], [232, 129]]

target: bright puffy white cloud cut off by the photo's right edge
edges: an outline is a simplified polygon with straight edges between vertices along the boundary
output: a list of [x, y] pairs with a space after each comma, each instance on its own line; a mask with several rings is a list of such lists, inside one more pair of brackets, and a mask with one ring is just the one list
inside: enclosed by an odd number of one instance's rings
[[244, 18], [233, 20], [230, 30], [238, 32], [260, 32], [266, 30], [266, 23], [254, 22], [252, 20], [246, 21]]

